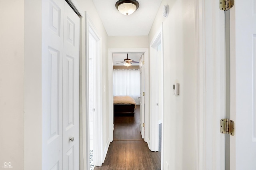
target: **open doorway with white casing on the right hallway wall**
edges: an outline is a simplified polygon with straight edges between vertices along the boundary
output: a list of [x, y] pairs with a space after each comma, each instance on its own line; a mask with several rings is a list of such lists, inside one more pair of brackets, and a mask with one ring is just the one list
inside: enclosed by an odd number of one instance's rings
[[164, 134], [164, 68], [163, 68], [162, 28], [156, 33], [150, 43], [150, 122], [152, 151], [161, 154], [163, 167], [163, 134]]

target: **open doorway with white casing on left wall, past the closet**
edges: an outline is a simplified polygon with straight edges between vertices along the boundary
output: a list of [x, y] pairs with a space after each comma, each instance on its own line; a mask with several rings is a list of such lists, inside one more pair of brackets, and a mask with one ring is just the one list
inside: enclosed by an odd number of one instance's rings
[[101, 166], [102, 160], [102, 90], [101, 40], [89, 17], [86, 16], [86, 73], [87, 73], [87, 161], [88, 168]]

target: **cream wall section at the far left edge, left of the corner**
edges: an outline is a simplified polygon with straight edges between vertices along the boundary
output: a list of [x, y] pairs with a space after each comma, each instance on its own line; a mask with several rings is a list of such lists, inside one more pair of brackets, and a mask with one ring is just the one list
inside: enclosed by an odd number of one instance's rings
[[24, 0], [0, 0], [0, 169], [23, 169]]

